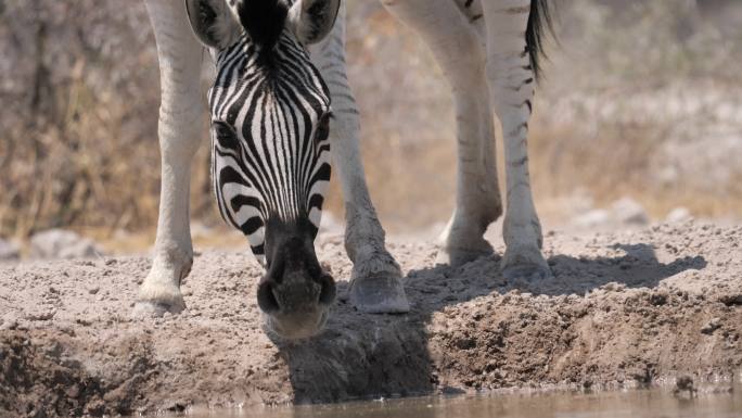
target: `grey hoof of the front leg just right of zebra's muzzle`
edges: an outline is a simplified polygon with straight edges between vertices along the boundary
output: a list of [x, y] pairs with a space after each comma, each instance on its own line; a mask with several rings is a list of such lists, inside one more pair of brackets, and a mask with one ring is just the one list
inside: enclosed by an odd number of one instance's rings
[[350, 283], [350, 303], [367, 314], [406, 314], [410, 312], [405, 288], [398, 277], [378, 274], [356, 278]]

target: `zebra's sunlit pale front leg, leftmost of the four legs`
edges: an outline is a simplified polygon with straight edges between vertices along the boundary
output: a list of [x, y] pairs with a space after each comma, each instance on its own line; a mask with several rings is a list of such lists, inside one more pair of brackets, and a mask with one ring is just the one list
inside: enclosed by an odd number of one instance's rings
[[139, 289], [135, 315], [162, 315], [186, 308], [180, 283], [193, 263], [189, 225], [191, 163], [199, 149], [202, 48], [181, 1], [148, 0], [161, 68], [159, 217], [152, 269]]

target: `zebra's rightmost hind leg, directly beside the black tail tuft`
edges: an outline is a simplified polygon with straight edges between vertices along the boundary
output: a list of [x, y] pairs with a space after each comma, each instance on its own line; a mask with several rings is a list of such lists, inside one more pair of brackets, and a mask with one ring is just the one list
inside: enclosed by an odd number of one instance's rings
[[541, 226], [528, 178], [527, 134], [534, 72], [524, 34], [530, 1], [489, 0], [482, 5], [487, 27], [487, 80], [504, 136], [508, 206], [503, 275], [510, 279], [540, 279], [549, 276], [549, 267], [540, 252]]

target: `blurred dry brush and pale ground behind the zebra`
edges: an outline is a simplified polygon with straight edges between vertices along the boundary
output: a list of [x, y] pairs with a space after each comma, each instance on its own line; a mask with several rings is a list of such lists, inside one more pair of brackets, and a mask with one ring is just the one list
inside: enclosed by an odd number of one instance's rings
[[[348, 76], [372, 198], [389, 233], [432, 237], [453, 207], [448, 87], [417, 36], [378, 2], [347, 1]], [[742, 1], [554, 4], [558, 41], [529, 140], [545, 228], [739, 220]], [[34, 237], [50, 229], [94, 240], [86, 251], [146, 251], [159, 190], [158, 78], [141, 1], [0, 0], [0, 254], [41, 256]], [[222, 233], [203, 137], [196, 242], [246, 248]], [[330, 229], [342, 228], [340, 193], [334, 183]]]

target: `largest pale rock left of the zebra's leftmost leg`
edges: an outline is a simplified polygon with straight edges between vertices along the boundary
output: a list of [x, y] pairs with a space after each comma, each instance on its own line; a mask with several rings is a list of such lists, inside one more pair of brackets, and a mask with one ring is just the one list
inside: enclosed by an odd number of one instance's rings
[[102, 254], [95, 243], [73, 231], [50, 229], [30, 239], [30, 255], [35, 258], [85, 258]]

